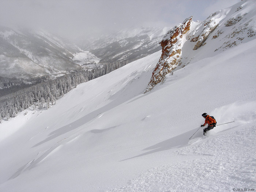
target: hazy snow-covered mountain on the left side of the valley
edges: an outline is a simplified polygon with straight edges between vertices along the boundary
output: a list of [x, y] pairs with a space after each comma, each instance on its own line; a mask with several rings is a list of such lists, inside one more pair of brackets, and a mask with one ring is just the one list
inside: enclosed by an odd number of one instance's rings
[[80, 49], [45, 31], [0, 27], [0, 76], [27, 78], [79, 68], [71, 61]]

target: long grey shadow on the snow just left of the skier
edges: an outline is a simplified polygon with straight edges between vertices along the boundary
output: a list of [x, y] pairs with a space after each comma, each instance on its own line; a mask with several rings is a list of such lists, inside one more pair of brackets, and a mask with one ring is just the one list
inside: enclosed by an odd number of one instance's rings
[[[130, 157], [128, 159], [133, 159], [133, 158], [136, 158], [136, 157], [142, 157], [144, 155], [149, 155], [149, 154], [152, 154], [152, 153], [157, 153], [159, 151], [169, 150], [171, 148], [180, 148], [180, 147], [187, 146], [188, 145], [188, 139], [195, 132], [195, 130], [182, 133], [181, 135], [177, 135], [173, 138], [164, 140], [164, 141], [159, 142], [159, 143], [157, 143], [157, 144], [155, 144], [151, 147], [144, 148], [142, 151], [147, 151], [147, 150], [150, 150], [150, 151], [148, 151], [146, 153], [142, 153], [140, 155], [136, 155], [134, 157]], [[125, 160], [128, 160], [128, 159], [124, 159], [124, 160], [121, 160], [121, 161], [125, 161]]]

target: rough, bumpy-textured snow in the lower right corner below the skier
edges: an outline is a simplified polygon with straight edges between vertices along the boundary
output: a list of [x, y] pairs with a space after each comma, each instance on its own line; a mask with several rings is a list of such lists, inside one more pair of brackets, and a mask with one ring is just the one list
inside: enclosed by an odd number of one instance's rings
[[198, 159], [149, 169], [129, 181], [126, 187], [107, 191], [204, 192], [256, 188], [256, 123], [234, 129], [172, 152], [183, 155], [184, 159], [198, 155]]

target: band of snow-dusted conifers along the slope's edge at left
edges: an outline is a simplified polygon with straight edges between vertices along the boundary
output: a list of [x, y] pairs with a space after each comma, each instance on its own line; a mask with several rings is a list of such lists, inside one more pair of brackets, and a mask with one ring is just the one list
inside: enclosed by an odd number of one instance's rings
[[9, 97], [1, 98], [0, 123], [2, 123], [3, 119], [8, 121], [11, 117], [16, 117], [18, 112], [30, 107], [34, 110], [48, 109], [50, 105], [56, 103], [57, 99], [74, 89], [78, 84], [108, 74], [126, 64], [128, 64], [128, 60], [104, 64], [101, 67], [95, 67], [89, 70], [82, 69], [23, 89], [13, 93]]

